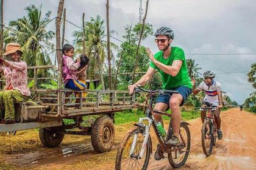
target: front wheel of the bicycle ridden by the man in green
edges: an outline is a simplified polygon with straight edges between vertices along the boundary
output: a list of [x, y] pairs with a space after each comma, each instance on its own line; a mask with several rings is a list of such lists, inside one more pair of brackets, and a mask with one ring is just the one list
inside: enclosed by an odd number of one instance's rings
[[[134, 127], [132, 131], [128, 132], [119, 145], [116, 154], [116, 170], [121, 169], [147, 169], [149, 164], [150, 154], [152, 153], [151, 137], [149, 135], [148, 142], [143, 157], [139, 158], [141, 147], [143, 145], [144, 129], [141, 127]], [[133, 142], [133, 139], [136, 142]], [[131, 153], [132, 144], [135, 144], [133, 153]]]

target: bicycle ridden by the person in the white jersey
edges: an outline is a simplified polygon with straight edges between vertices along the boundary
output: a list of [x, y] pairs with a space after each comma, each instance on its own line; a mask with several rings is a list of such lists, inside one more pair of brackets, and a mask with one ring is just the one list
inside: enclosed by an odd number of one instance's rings
[[207, 110], [207, 117], [204, 119], [204, 124], [202, 125], [202, 149], [206, 156], [212, 154], [213, 146], [216, 145], [217, 137], [217, 124], [214, 118], [214, 112], [217, 106], [202, 107], [200, 110]]

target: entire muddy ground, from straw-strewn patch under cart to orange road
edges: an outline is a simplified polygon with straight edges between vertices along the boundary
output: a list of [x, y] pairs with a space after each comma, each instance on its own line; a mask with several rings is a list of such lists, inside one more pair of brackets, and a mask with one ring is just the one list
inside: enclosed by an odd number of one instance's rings
[[[191, 132], [191, 152], [188, 160], [179, 169], [256, 169], [256, 115], [239, 108], [229, 109], [221, 113], [222, 140], [217, 140], [212, 155], [205, 157], [201, 146], [201, 127], [199, 118], [188, 121]], [[166, 121], [166, 126], [168, 122]], [[63, 143], [57, 148], [43, 148], [38, 140], [37, 132], [29, 132], [34, 138], [30, 148], [24, 151], [13, 149], [0, 155], [0, 169], [114, 169], [116, 148], [121, 138], [133, 123], [116, 126], [115, 144], [112, 151], [98, 154], [93, 151], [90, 137], [66, 135]], [[27, 135], [17, 134], [18, 136]], [[152, 133], [151, 133], [152, 134]], [[15, 137], [0, 137], [2, 142], [12, 142]], [[13, 139], [14, 140], [14, 139]], [[20, 143], [26, 140], [15, 140]], [[30, 139], [31, 140], [31, 139]], [[153, 152], [157, 141], [152, 134]], [[15, 145], [13, 144], [14, 148]], [[153, 153], [154, 154], [154, 153]], [[168, 159], [154, 160], [151, 155], [148, 169], [172, 169]]]

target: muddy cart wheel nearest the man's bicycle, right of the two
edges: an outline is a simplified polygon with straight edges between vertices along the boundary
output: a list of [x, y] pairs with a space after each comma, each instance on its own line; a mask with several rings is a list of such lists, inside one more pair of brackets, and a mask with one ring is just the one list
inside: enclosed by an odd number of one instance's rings
[[96, 152], [110, 151], [115, 138], [115, 127], [110, 117], [98, 117], [91, 129], [91, 144]]

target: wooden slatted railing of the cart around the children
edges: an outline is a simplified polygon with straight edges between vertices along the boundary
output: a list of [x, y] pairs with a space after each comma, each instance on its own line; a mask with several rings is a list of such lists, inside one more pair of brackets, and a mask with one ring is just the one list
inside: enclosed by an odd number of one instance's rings
[[[46, 120], [47, 117], [111, 113], [132, 109], [135, 106], [133, 99], [135, 96], [129, 95], [129, 92], [124, 90], [83, 90], [79, 92], [61, 88], [63, 83], [59, 80], [61, 80], [62, 73], [53, 65], [28, 67], [28, 72], [28, 81], [32, 84], [31, 98], [38, 105], [27, 106], [26, 109], [40, 109], [41, 120]], [[48, 76], [38, 76], [43, 75], [42, 72], [48, 72]], [[54, 88], [45, 89], [42, 84], [50, 84], [51, 80], [54, 80], [55, 84], [49, 87], [54, 86]], [[0, 83], [4, 81], [1, 79]], [[72, 92], [72, 94], [66, 97], [67, 92]], [[86, 97], [83, 93], [87, 94]], [[77, 99], [79, 99], [78, 103], [76, 103]], [[65, 102], [67, 100], [68, 102]]]

